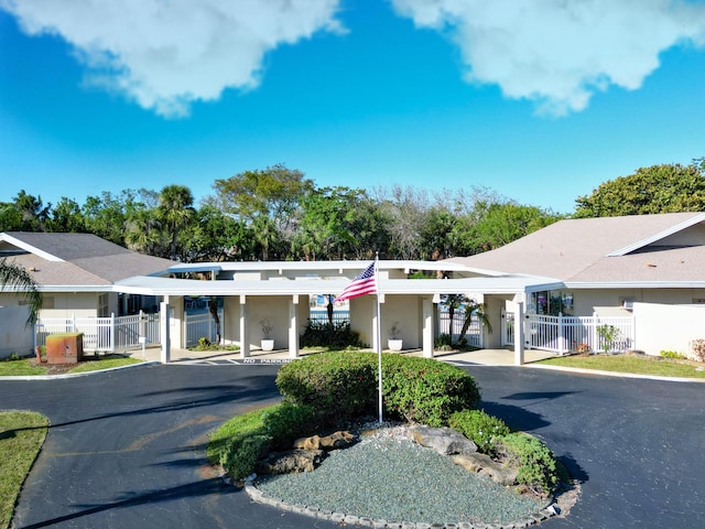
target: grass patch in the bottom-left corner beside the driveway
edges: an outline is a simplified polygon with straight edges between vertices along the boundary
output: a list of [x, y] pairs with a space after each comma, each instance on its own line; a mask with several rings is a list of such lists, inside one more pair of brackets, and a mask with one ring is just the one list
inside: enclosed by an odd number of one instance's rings
[[10, 527], [14, 503], [46, 438], [48, 419], [32, 411], [0, 412], [0, 529]]

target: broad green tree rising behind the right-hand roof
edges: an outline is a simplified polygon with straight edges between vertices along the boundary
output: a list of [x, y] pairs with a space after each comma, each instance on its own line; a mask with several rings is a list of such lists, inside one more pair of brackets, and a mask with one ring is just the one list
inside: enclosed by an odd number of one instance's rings
[[574, 217], [614, 217], [705, 210], [705, 159], [690, 165], [640, 168], [575, 199]]

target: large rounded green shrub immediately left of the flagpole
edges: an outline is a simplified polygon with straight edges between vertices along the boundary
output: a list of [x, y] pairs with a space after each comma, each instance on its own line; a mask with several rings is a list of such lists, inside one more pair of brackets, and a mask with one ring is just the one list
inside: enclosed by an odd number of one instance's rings
[[286, 401], [313, 407], [326, 424], [371, 414], [377, 402], [375, 358], [352, 352], [311, 355], [282, 366], [276, 387]]

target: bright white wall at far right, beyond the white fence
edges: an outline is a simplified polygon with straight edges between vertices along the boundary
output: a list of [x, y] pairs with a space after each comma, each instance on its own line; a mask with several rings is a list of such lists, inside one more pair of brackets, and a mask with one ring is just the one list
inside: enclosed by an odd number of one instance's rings
[[662, 350], [688, 355], [693, 339], [705, 338], [705, 305], [634, 303], [636, 348], [659, 356]]

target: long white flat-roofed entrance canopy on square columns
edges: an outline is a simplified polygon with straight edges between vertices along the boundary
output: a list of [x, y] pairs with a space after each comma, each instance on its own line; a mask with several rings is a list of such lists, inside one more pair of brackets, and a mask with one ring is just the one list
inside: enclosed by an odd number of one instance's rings
[[[177, 277], [133, 277], [116, 283], [119, 292], [161, 298], [161, 360], [169, 363], [171, 348], [184, 347], [182, 341], [184, 296], [224, 299], [223, 341], [237, 344], [247, 358], [263, 337], [260, 322], [272, 325], [278, 349], [299, 356], [299, 336], [308, 320], [310, 299], [322, 293], [341, 292], [369, 261], [325, 262], [228, 262], [178, 264], [172, 274], [198, 273], [207, 280]], [[457, 269], [457, 270], [456, 270]], [[531, 292], [558, 289], [562, 283], [532, 276], [476, 276], [459, 279], [406, 279], [410, 270], [442, 270], [468, 273], [465, 267], [447, 261], [379, 261], [378, 289], [382, 333], [398, 324], [405, 349], [421, 349], [434, 356], [437, 305], [443, 294], [462, 293], [482, 302], [492, 328], [501, 327], [502, 310], [524, 321], [525, 302]], [[470, 272], [473, 273], [473, 272]], [[375, 350], [383, 344], [378, 335], [376, 296], [350, 300], [350, 327]], [[486, 333], [486, 346], [499, 347], [500, 333]], [[518, 325], [514, 363], [523, 364], [524, 330]], [[382, 349], [386, 347], [381, 347]]]

